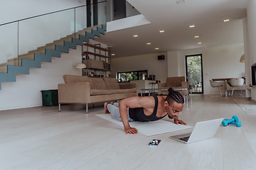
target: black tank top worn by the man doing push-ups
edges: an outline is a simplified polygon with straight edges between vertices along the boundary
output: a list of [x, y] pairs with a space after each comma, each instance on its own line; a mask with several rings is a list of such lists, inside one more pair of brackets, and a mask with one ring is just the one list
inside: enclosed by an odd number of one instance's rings
[[156, 120], [160, 120], [161, 118], [164, 118], [167, 114], [160, 118], [156, 117], [156, 112], [158, 107], [158, 98], [157, 96], [153, 96], [153, 97], [155, 99], [155, 106], [154, 106], [154, 111], [151, 115], [145, 115], [144, 108], [129, 108], [129, 117], [132, 118], [132, 120], [135, 120], [138, 122], [150, 122], [150, 121], [156, 121]]

